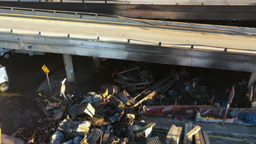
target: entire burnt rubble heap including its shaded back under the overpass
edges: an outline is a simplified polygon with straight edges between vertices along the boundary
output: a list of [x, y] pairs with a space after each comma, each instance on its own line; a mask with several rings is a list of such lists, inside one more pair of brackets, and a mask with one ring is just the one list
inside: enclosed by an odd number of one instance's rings
[[138, 67], [115, 76], [114, 85], [104, 85], [83, 99], [64, 93], [51, 100], [39, 95], [37, 105], [45, 118], [38, 121], [37, 133], [43, 137], [36, 143], [147, 143], [155, 123], [144, 123], [143, 105], [213, 103], [211, 91], [199, 85], [201, 77], [190, 79], [185, 70], [172, 71], [158, 82]]

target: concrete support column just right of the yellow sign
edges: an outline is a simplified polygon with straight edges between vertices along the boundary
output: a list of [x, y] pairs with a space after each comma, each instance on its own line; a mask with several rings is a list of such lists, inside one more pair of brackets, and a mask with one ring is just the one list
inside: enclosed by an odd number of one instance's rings
[[63, 54], [65, 69], [66, 69], [66, 75], [67, 75], [67, 81], [68, 82], [74, 82], [74, 68], [73, 68], [73, 62], [72, 62], [72, 56], [68, 54]]

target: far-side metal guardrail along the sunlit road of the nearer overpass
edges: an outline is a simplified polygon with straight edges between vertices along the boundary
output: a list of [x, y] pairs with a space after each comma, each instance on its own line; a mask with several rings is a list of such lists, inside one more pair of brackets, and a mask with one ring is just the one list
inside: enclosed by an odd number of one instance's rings
[[[100, 0], [100, 1], [102, 1], [102, 0]], [[11, 14], [21, 14], [22, 17], [24, 17], [24, 16], [29, 17], [30, 15], [33, 15], [33, 16], [37, 15], [37, 16], [74, 18], [74, 19], [79, 19], [79, 20], [81, 20], [81, 19], [82, 20], [95, 20], [96, 19], [98, 21], [104, 21], [104, 22], [106, 22], [106, 21], [108, 21], [108, 22], [124, 22], [124, 23], [126, 23], [125, 25], [132, 24], [132, 26], [139, 26], [139, 27], [141, 25], [143, 25], [144, 27], [152, 27], [152, 28], [167, 28], [167, 29], [178, 29], [178, 30], [183, 30], [183, 31], [196, 31], [196, 32], [210, 32], [210, 33], [224, 33], [224, 34], [256, 36], [256, 28], [247, 28], [247, 27], [205, 25], [205, 24], [197, 24], [197, 23], [183, 23], [183, 22], [172, 22], [172, 21], [152, 21], [152, 20], [142, 20], [142, 19], [131, 19], [128, 17], [118, 16], [118, 15], [85, 13], [85, 12], [77, 12], [77, 11], [31, 9], [31, 8], [17, 8], [17, 7], [0, 7], [0, 9], [1, 9], [1, 13], [4, 13], [4, 15], [9, 14], [10, 16], [15, 16], [15, 15], [11, 15]], [[4, 10], [11, 10], [11, 11], [4, 11]], [[32, 13], [24, 13], [21, 10], [32, 11]], [[44, 13], [40, 13], [40, 12], [49, 12], [49, 13], [45, 15]], [[50, 14], [50, 13], [54, 13], [54, 14]], [[67, 16], [65, 14], [74, 14], [74, 16], [72, 16], [72, 15]], [[93, 17], [93, 18], [87, 17], [86, 15], [95, 16], [95, 17]], [[104, 16], [104, 18], [102, 19], [101, 16]], [[37, 19], [39, 19], [39, 17], [37, 17]], [[77, 21], [77, 20], [72, 20], [72, 21]], [[115, 23], [115, 24], [118, 24], [118, 23]], [[121, 24], [121, 25], [123, 25], [123, 24]], [[130, 40], [132, 40], [132, 39], [130, 39]], [[185, 45], [187, 45], [187, 44], [185, 44]], [[198, 45], [198, 46], [203, 46], [203, 45]], [[251, 50], [251, 51], [254, 51], [254, 50]]]

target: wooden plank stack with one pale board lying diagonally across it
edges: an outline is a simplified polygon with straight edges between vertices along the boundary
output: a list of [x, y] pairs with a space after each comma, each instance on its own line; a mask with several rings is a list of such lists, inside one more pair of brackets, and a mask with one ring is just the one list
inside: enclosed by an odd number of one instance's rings
[[210, 144], [206, 131], [201, 131], [199, 125], [193, 123], [185, 124], [184, 144], [191, 144], [195, 137], [196, 144]]

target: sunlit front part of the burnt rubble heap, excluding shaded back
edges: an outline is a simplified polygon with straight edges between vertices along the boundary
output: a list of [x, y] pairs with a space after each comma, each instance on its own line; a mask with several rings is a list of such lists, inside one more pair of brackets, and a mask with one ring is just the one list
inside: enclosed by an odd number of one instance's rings
[[[167, 83], [161, 81], [157, 86], [166, 89]], [[153, 97], [152, 93], [159, 92], [154, 87], [139, 97]], [[48, 103], [43, 108], [45, 115], [51, 115], [51, 123], [57, 123], [49, 143], [132, 143], [146, 142], [150, 137], [154, 123], [135, 121], [139, 113], [139, 108], [136, 108], [145, 98], [136, 101], [138, 97], [133, 98], [113, 85], [102, 86], [98, 93], [89, 92], [81, 101], [62, 96], [55, 98], [56, 103], [44, 100]]]

